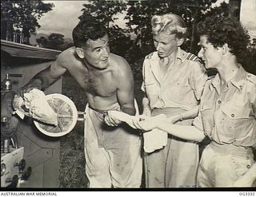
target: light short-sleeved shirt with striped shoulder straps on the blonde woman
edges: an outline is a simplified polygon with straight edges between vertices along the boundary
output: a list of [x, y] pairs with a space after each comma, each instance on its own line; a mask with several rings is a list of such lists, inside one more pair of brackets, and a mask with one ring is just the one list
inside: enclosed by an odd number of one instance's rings
[[142, 69], [142, 91], [150, 100], [150, 108], [182, 108], [198, 105], [207, 80], [206, 69], [192, 53], [178, 48], [174, 63], [165, 76], [160, 76], [158, 52], [145, 57]]

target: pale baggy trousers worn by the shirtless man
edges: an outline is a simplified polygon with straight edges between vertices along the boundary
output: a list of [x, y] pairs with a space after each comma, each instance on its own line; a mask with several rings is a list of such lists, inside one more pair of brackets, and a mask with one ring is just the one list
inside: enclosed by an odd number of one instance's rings
[[88, 105], [85, 156], [89, 187], [141, 186], [142, 157], [138, 131], [127, 125], [108, 126], [104, 122], [104, 114]]

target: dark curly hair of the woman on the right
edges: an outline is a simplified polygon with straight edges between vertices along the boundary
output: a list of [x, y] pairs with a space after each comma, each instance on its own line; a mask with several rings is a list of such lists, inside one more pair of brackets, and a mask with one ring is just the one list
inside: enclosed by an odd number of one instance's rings
[[230, 53], [241, 59], [246, 52], [247, 45], [250, 43], [250, 36], [242, 28], [240, 22], [235, 22], [231, 18], [222, 15], [213, 15], [199, 22], [197, 25], [199, 35], [205, 35], [214, 47], [221, 47], [227, 44]]

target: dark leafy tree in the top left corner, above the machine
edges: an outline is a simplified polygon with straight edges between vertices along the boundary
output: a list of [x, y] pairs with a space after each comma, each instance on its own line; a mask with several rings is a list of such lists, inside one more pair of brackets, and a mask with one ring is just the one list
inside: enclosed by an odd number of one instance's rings
[[22, 29], [24, 43], [29, 44], [30, 34], [36, 33], [36, 28], [40, 27], [38, 19], [40, 19], [43, 14], [52, 10], [52, 7], [54, 7], [54, 4], [45, 3], [42, 2], [42, 0], [1, 1], [1, 27], [4, 29], [2, 33], [4, 33], [4, 31], [13, 31], [13, 29], [7, 30], [10, 27]]

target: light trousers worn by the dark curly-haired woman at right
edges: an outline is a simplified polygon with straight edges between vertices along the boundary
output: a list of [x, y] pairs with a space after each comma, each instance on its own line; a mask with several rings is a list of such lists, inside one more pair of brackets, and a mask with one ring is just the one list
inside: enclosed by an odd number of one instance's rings
[[254, 164], [253, 158], [251, 149], [212, 142], [202, 152], [198, 187], [232, 187]]

